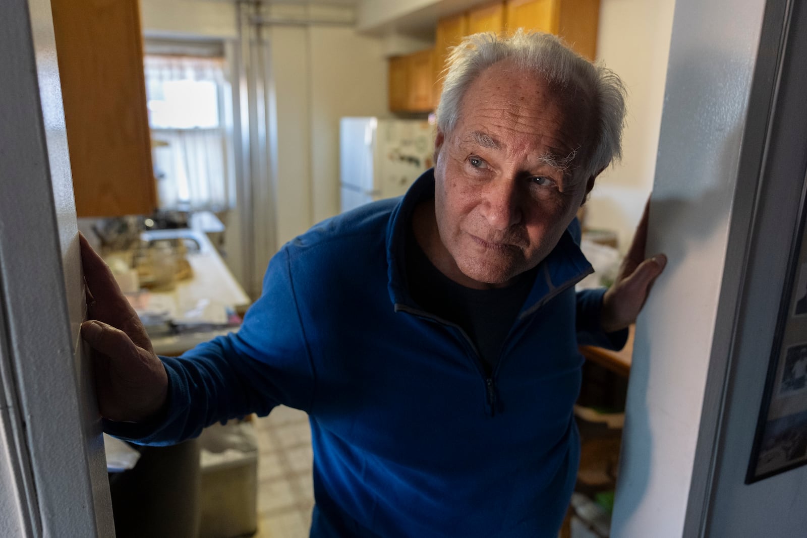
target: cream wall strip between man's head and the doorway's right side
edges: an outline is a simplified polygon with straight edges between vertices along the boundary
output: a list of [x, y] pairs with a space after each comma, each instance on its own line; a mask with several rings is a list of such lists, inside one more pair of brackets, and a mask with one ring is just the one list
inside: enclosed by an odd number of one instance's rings
[[617, 231], [625, 252], [653, 186], [675, 0], [601, 0], [597, 60], [628, 90], [622, 161], [600, 174], [586, 226]]

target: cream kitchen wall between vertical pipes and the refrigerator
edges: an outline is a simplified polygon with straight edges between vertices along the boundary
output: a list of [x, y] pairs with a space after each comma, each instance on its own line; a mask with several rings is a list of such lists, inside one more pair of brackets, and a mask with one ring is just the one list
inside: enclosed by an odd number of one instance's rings
[[278, 246], [339, 212], [339, 119], [388, 115], [383, 40], [345, 26], [270, 30]]

